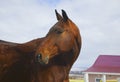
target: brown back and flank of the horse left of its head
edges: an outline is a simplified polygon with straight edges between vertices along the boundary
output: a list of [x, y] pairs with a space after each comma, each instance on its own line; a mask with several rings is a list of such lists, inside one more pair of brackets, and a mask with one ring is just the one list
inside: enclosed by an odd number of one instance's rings
[[0, 82], [30, 82], [30, 63], [41, 41], [20, 44], [0, 40]]

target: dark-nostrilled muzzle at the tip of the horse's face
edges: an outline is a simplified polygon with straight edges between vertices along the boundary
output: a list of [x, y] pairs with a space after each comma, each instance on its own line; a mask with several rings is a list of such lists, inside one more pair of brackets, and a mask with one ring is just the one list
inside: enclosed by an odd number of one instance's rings
[[35, 61], [37, 63], [40, 63], [42, 65], [44, 64], [48, 64], [48, 61], [49, 61], [49, 56], [46, 56], [45, 58], [42, 58], [42, 55], [41, 54], [38, 54], [35, 58]]

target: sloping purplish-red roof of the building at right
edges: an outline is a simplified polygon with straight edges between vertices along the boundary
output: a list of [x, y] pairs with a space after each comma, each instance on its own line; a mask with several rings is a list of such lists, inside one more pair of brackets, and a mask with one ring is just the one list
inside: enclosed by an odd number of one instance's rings
[[100, 55], [85, 72], [120, 73], [120, 56]]

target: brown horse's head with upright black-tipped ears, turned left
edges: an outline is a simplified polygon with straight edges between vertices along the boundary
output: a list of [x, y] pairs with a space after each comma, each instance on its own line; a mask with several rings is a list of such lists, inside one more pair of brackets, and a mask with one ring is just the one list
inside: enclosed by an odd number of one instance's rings
[[36, 61], [43, 64], [48, 64], [56, 55], [76, 49], [75, 45], [79, 49], [81, 46], [79, 30], [66, 12], [62, 10], [62, 16], [56, 10], [55, 13], [58, 22], [49, 30], [35, 54]]

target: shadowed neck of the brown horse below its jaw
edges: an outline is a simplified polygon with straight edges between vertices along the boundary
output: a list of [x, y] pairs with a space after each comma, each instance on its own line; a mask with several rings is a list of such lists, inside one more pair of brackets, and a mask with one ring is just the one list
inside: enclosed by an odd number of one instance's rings
[[79, 35], [78, 38], [75, 40], [74, 47], [67, 53], [59, 55], [58, 57], [54, 58], [58, 64], [66, 66], [68, 70], [71, 69], [74, 62], [79, 56], [81, 50], [81, 36]]

